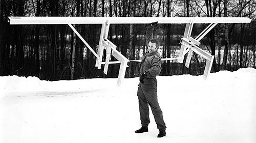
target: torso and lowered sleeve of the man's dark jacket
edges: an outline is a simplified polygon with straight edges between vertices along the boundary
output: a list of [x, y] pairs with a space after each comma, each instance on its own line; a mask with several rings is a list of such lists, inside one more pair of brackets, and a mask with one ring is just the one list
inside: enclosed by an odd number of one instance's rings
[[140, 75], [146, 73], [147, 78], [155, 78], [161, 72], [161, 56], [158, 51], [150, 54], [146, 52], [140, 63]]

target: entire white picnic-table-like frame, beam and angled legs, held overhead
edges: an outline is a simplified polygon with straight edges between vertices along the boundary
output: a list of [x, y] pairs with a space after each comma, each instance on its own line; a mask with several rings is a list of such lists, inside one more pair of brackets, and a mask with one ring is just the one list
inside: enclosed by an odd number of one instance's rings
[[[141, 60], [128, 60], [119, 51], [116, 50], [116, 45], [108, 40], [110, 24], [144, 24], [158, 21], [158, 23], [186, 23], [183, 38], [180, 41], [181, 49], [177, 58], [166, 58], [162, 61], [177, 60], [183, 63], [186, 53], [185, 66], [188, 68], [193, 52], [201, 55], [206, 59], [203, 78], [207, 79], [211, 70], [214, 55], [207, 53], [199, 48], [199, 41], [214, 28], [218, 23], [250, 23], [251, 19], [246, 17], [8, 17], [10, 24], [68, 24], [82, 42], [96, 56], [95, 66], [98, 69], [104, 65], [104, 73], [108, 73], [109, 64], [121, 64], [119, 69], [117, 86], [122, 84], [125, 70], [128, 67], [128, 62], [140, 62]], [[191, 32], [194, 23], [210, 23], [205, 30], [200, 33], [195, 39], [191, 37]], [[101, 34], [99, 39], [98, 52], [96, 53], [91, 46], [82, 38], [72, 24], [102, 24]], [[102, 62], [103, 50], [106, 50], [106, 61]], [[113, 55], [118, 61], [110, 61]]]

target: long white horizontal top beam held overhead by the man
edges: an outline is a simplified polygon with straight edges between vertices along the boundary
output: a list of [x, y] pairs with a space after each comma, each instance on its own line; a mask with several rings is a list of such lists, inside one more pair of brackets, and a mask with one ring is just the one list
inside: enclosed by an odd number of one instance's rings
[[8, 17], [10, 24], [250, 23], [247, 17]]

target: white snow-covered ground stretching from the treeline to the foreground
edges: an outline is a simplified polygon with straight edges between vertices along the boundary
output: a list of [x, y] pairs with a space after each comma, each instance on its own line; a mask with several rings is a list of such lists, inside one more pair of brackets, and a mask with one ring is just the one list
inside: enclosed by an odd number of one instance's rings
[[158, 76], [166, 137], [141, 127], [139, 78], [42, 81], [0, 77], [0, 142], [256, 142], [256, 69]]

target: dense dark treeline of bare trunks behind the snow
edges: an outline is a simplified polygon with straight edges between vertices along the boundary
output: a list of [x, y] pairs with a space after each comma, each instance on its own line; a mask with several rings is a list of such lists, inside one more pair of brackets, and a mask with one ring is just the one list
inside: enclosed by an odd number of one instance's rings
[[[8, 16], [115, 16], [115, 17], [249, 17], [251, 23], [218, 24], [201, 40], [201, 48], [215, 55], [212, 72], [256, 67], [255, 0], [1, 0], [0, 76], [37, 76], [45, 80], [117, 77], [119, 64], [108, 75], [95, 67], [96, 58], [68, 25], [10, 25]], [[154, 21], [152, 21], [154, 22]], [[111, 24], [109, 39], [130, 60], [145, 49], [145, 24]], [[76, 30], [97, 51], [100, 24], [76, 24]], [[197, 36], [207, 24], [195, 24]], [[179, 53], [185, 24], [158, 24], [162, 58]], [[114, 59], [112, 59], [114, 60]], [[103, 57], [104, 61], [104, 57]], [[138, 63], [130, 63], [125, 77], [135, 77]], [[161, 75], [203, 74], [205, 60], [193, 54], [189, 69], [172, 61], [162, 63]]]

